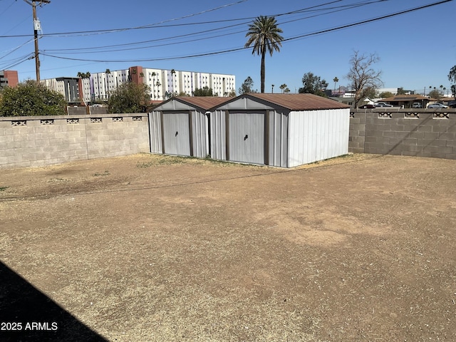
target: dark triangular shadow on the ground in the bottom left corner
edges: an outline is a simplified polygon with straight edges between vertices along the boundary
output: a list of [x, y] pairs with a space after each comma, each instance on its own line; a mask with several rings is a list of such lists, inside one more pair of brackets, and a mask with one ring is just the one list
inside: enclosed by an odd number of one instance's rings
[[0, 261], [0, 341], [107, 340]]

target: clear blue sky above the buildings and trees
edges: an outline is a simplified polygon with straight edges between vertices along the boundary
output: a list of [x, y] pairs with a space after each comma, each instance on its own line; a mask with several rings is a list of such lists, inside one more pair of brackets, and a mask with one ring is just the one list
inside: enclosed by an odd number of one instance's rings
[[[438, 2], [51, 0], [37, 6], [41, 79], [143, 66], [234, 74], [237, 89], [250, 76], [259, 90], [260, 58], [243, 48], [245, 33], [255, 17], [275, 15], [289, 40], [266, 58], [266, 92], [272, 84], [278, 92], [283, 83], [297, 91], [307, 72], [326, 79], [328, 88], [334, 77], [346, 86], [353, 51], [378, 54], [374, 68], [382, 71], [385, 88], [450, 89], [456, 0]], [[371, 21], [430, 4], [436, 5]], [[34, 51], [31, 5], [0, 0], [0, 18], [0, 70], [17, 70], [19, 81], [36, 78], [34, 60], [26, 59]], [[371, 22], [319, 33], [362, 21]]]

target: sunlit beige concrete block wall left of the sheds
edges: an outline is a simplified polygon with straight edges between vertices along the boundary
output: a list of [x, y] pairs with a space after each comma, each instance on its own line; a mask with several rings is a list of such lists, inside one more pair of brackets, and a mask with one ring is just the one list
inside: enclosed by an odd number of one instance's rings
[[0, 169], [150, 152], [147, 114], [0, 118]]

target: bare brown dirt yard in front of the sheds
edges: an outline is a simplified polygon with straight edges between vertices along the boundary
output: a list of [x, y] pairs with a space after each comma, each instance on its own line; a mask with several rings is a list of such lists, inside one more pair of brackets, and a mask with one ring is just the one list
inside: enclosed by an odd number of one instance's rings
[[456, 341], [456, 160], [0, 170], [0, 215], [0, 341]]

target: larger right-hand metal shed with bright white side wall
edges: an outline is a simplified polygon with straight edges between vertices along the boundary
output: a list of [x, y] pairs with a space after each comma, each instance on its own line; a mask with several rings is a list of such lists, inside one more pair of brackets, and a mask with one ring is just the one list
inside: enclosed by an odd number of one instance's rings
[[348, 153], [350, 107], [312, 94], [248, 93], [210, 113], [211, 157], [296, 167]]

